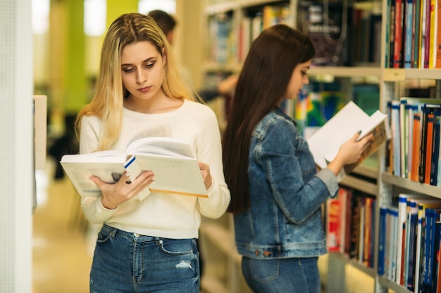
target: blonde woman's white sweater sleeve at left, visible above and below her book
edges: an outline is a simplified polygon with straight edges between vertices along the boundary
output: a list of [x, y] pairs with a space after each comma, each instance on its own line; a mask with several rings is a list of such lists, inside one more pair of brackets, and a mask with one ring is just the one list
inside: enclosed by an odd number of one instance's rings
[[[101, 134], [101, 121], [97, 117], [85, 116], [81, 121], [80, 153], [93, 152], [99, 143]], [[106, 209], [101, 204], [101, 197], [82, 197], [82, 211], [91, 223], [104, 223], [118, 210]]]

